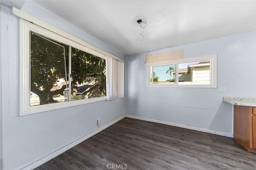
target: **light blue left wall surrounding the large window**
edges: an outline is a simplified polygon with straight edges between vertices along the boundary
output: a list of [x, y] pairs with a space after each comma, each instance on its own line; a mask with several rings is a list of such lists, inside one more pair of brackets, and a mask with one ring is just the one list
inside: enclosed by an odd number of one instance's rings
[[[30, 1], [28, 1], [30, 2]], [[55, 14], [26, 4], [26, 12], [74, 34], [124, 59], [124, 55], [82, 32]], [[38, 12], [38, 13], [37, 13]], [[102, 101], [44, 113], [19, 116], [19, 26], [11, 10], [1, 6], [1, 85], [3, 168], [14, 170], [73, 142], [97, 128], [125, 115], [125, 99]]]

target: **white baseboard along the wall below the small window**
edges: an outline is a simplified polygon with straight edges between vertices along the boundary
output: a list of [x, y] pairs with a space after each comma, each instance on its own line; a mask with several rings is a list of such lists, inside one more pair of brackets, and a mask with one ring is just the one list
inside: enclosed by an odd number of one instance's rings
[[227, 132], [218, 132], [218, 131], [210, 130], [210, 129], [206, 129], [206, 128], [192, 127], [192, 126], [189, 126], [189, 125], [182, 125], [182, 124], [178, 124], [178, 123], [171, 123], [171, 122], [160, 121], [160, 120], [156, 120], [156, 119], [137, 117], [137, 116], [133, 116], [133, 115], [126, 115], [126, 117], [132, 118], [132, 119], [139, 119], [139, 120], [142, 120], [142, 121], [161, 123], [161, 124], [164, 124], [164, 125], [170, 125], [170, 126], [174, 126], [174, 127], [187, 128], [187, 129], [191, 129], [191, 130], [197, 130], [197, 131], [200, 131], [200, 132], [206, 132], [206, 133], [217, 134], [217, 135], [220, 135], [220, 136], [226, 136], [226, 137], [233, 138], [233, 134], [232, 133], [227, 133]]

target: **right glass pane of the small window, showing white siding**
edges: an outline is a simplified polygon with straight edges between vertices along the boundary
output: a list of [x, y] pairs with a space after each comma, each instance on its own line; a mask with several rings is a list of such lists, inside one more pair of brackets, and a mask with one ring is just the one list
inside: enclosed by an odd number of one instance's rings
[[210, 84], [210, 60], [179, 63], [179, 84]]

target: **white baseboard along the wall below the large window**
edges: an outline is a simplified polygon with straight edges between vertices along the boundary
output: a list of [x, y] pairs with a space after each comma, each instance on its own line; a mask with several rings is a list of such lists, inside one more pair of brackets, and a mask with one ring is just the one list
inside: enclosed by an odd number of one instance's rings
[[96, 128], [96, 129], [92, 130], [91, 132], [89, 132], [88, 134], [82, 136], [81, 138], [78, 138], [74, 142], [71, 142], [71, 143], [69, 143], [65, 146], [62, 146], [62, 147], [58, 148], [57, 150], [43, 156], [42, 158], [34, 161], [33, 163], [26, 165], [24, 168], [20, 168], [20, 170], [32, 170], [34, 168], [37, 168], [38, 166], [44, 164], [45, 162], [51, 160], [52, 158], [55, 158], [56, 156], [62, 154], [65, 151], [67, 151], [68, 149], [76, 146], [77, 144], [83, 142], [84, 140], [92, 137], [94, 134], [97, 134], [98, 132], [104, 130], [105, 128], [113, 125], [114, 123], [116, 123], [116, 122], [118, 122], [118, 121], [120, 121], [121, 119], [124, 119], [124, 118], [125, 118], [125, 115], [122, 116], [122, 117], [119, 117], [118, 119], [116, 119], [116, 120], [114, 120], [110, 123], [108, 123], [107, 125], [104, 125], [103, 127]]

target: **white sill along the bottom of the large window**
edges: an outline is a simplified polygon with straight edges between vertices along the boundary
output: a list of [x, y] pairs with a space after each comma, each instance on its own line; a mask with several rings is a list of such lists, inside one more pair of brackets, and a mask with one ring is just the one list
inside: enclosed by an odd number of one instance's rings
[[37, 105], [37, 106], [32, 106], [32, 107], [27, 107], [25, 111], [22, 111], [20, 113], [20, 116], [24, 115], [30, 115], [34, 113], [41, 113], [41, 112], [46, 112], [46, 111], [52, 111], [56, 109], [63, 109], [66, 107], [73, 107], [73, 106], [78, 106], [78, 105], [84, 105], [88, 103], [94, 103], [94, 102], [99, 102], [99, 101], [106, 101], [107, 97], [97, 97], [97, 98], [92, 98], [92, 99], [82, 99], [82, 100], [77, 100], [77, 101], [66, 101], [62, 103], [52, 103], [52, 104], [47, 104], [47, 105]]

